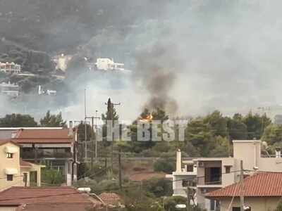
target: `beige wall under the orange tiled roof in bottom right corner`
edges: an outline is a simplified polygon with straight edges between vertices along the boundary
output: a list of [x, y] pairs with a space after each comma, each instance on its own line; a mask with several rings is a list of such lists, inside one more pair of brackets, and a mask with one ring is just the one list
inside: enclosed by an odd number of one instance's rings
[[[250, 206], [254, 211], [270, 211], [275, 210], [279, 200], [279, 197], [245, 197], [245, 205]], [[221, 200], [221, 211], [226, 211], [230, 203], [231, 198], [223, 198]], [[232, 207], [240, 207], [239, 198], [233, 200], [231, 210]]]

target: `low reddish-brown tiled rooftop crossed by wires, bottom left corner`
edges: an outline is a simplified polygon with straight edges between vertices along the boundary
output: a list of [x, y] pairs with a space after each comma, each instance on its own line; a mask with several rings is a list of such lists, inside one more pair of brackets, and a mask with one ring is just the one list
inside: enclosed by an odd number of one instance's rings
[[12, 187], [0, 192], [0, 211], [90, 211], [102, 203], [73, 187]]

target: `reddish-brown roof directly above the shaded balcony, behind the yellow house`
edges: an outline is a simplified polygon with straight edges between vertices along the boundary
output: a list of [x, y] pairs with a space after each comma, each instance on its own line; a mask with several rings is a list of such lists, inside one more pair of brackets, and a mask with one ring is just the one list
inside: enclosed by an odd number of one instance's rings
[[71, 143], [68, 129], [20, 129], [13, 141], [17, 143]]

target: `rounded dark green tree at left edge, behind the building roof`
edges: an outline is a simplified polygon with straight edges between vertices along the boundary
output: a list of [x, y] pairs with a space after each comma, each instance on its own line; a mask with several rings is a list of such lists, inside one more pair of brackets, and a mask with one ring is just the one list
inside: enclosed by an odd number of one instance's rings
[[37, 127], [35, 118], [30, 115], [13, 113], [0, 118], [0, 127]]

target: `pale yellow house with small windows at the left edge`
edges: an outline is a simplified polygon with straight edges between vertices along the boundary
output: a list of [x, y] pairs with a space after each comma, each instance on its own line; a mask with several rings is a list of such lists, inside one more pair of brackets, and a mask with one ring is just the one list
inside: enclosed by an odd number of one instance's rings
[[20, 159], [20, 145], [0, 141], [0, 191], [11, 186], [41, 186], [42, 165]]

